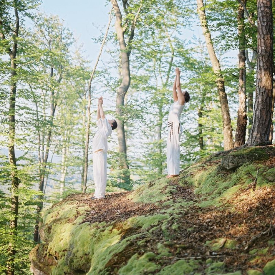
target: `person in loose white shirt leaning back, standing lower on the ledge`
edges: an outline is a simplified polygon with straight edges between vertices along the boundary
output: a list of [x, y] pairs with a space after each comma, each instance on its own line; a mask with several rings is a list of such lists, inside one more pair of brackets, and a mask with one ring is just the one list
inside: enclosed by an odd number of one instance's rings
[[107, 181], [107, 150], [108, 136], [116, 129], [115, 119], [107, 120], [103, 111], [103, 97], [98, 99], [97, 126], [98, 130], [93, 137], [93, 180], [96, 185], [92, 200], [105, 198]]

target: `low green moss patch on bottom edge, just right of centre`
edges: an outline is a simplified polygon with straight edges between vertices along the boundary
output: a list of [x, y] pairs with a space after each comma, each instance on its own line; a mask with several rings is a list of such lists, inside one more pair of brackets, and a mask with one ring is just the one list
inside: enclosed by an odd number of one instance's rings
[[191, 274], [198, 267], [196, 261], [178, 260], [175, 264], [166, 266], [156, 274], [158, 275], [178, 275]]

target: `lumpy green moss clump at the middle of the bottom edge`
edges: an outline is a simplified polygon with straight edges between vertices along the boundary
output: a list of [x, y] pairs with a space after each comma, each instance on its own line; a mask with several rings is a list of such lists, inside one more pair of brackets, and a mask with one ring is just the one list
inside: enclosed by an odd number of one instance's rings
[[160, 268], [160, 265], [155, 264], [153, 260], [156, 255], [153, 252], [148, 252], [139, 257], [138, 254], [133, 255], [126, 266], [119, 269], [119, 275], [143, 275], [145, 273], [154, 272]]

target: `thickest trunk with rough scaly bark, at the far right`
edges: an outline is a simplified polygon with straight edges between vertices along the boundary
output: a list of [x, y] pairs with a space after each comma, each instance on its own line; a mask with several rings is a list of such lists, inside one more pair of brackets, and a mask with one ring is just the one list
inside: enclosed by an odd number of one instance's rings
[[248, 146], [269, 142], [273, 95], [272, 0], [257, 0], [257, 77], [253, 122]]

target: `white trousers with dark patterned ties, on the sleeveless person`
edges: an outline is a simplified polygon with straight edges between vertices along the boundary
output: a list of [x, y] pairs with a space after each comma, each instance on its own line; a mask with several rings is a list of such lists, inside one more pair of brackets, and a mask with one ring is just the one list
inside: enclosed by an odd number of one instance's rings
[[168, 122], [168, 136], [166, 146], [167, 173], [179, 175], [179, 140], [182, 135], [182, 125], [178, 121]]

